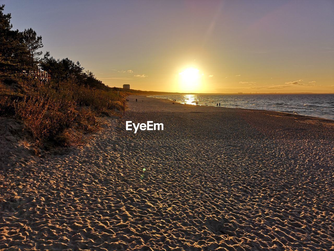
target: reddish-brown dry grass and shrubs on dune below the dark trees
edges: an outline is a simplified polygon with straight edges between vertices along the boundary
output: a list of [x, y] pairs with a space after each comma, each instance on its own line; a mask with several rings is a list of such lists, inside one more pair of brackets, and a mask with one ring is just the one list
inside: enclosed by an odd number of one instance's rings
[[100, 128], [98, 116], [121, 109], [123, 97], [111, 91], [63, 84], [57, 92], [40, 85], [25, 94], [0, 85], [0, 115], [15, 115], [22, 120], [38, 145], [53, 142], [80, 146], [83, 135]]

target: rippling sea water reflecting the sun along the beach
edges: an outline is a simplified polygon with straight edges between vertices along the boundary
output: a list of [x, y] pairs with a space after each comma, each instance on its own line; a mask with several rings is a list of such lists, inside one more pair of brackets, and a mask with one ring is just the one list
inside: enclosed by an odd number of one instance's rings
[[334, 119], [334, 94], [174, 94], [150, 97], [195, 105], [283, 111]]

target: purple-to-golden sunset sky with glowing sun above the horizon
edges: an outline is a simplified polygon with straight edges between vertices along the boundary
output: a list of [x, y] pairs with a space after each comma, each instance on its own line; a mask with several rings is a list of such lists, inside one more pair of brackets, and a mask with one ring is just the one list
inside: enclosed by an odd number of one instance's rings
[[3, 0], [13, 29], [106, 85], [333, 93], [334, 1]]

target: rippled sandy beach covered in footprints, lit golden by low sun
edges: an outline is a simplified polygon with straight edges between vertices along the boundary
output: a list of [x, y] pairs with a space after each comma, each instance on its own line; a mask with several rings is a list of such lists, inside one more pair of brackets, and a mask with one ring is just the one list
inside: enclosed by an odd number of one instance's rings
[[334, 121], [130, 96], [106, 123], [63, 155], [9, 148], [1, 250], [334, 250]]

